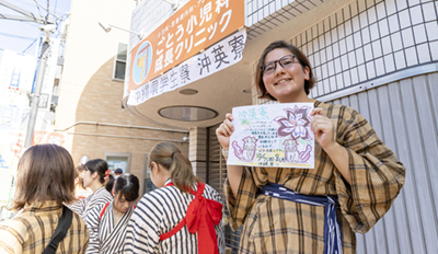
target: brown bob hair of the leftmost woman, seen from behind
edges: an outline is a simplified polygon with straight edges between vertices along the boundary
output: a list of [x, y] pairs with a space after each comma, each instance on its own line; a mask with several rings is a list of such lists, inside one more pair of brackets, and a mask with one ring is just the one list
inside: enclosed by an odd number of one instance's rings
[[70, 204], [76, 200], [73, 192], [74, 164], [70, 153], [57, 145], [37, 145], [27, 149], [19, 161], [11, 208], [21, 210], [49, 200]]

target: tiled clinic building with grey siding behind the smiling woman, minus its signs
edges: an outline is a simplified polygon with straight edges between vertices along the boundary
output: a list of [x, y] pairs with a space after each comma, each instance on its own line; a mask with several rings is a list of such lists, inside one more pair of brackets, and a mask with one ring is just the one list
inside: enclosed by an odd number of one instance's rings
[[[242, 0], [243, 1], [243, 0]], [[180, 7], [189, 2], [180, 2]], [[207, 3], [208, 1], [199, 1]], [[227, 2], [227, 1], [221, 1]], [[137, 116], [189, 129], [189, 159], [198, 175], [222, 192], [226, 161], [215, 130], [234, 106], [258, 100], [255, 67], [263, 49], [285, 39], [310, 59], [318, 79], [310, 96], [349, 105], [364, 115], [406, 166], [406, 183], [388, 215], [357, 235], [358, 253], [438, 252], [438, 2], [434, 0], [245, 0], [247, 41], [243, 59], [182, 89], [124, 105]], [[164, 1], [142, 1], [131, 30], [152, 32], [175, 10]], [[129, 41], [130, 48], [140, 42]], [[129, 67], [128, 67], [129, 69]], [[181, 91], [195, 90], [187, 96]], [[245, 93], [252, 89], [252, 93]], [[245, 92], [244, 92], [245, 91]], [[160, 116], [158, 101], [216, 111], [208, 120]], [[184, 104], [185, 102], [185, 104]], [[239, 231], [227, 229], [234, 252]]]

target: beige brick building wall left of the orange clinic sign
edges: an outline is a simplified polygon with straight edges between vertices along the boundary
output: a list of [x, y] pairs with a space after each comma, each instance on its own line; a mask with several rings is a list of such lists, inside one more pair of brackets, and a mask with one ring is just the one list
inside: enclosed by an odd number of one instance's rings
[[[131, 0], [72, 1], [56, 129], [66, 129], [78, 122], [161, 128], [122, 108], [124, 84], [112, 77], [117, 43], [128, 43], [129, 34], [114, 28], [105, 33], [99, 26], [103, 20], [129, 27], [134, 8]], [[174, 140], [188, 154], [188, 143], [183, 142], [188, 131], [79, 124], [65, 135], [64, 147], [71, 152], [76, 164], [82, 155], [103, 159], [105, 152], [130, 153], [130, 173], [141, 183], [145, 153], [155, 143]]]

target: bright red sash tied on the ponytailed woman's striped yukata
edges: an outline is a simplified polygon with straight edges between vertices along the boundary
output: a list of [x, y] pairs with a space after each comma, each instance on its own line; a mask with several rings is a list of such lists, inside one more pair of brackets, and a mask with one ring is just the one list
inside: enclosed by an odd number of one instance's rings
[[[169, 183], [165, 186], [174, 186]], [[198, 183], [198, 189], [195, 193], [195, 199], [188, 205], [187, 212], [183, 220], [171, 231], [161, 234], [160, 241], [166, 240], [178, 232], [187, 224], [188, 232], [198, 233], [198, 253], [199, 254], [218, 254], [218, 239], [216, 236], [215, 226], [222, 219], [222, 204], [203, 197], [205, 184]]]

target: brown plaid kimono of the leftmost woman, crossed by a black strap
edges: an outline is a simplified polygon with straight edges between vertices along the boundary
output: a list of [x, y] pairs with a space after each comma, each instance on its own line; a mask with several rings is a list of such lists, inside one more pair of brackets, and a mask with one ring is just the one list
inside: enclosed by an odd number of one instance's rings
[[[41, 254], [58, 226], [62, 206], [56, 201], [31, 205], [11, 220], [0, 224], [1, 254]], [[56, 253], [81, 254], [89, 245], [90, 232], [82, 218], [73, 212], [66, 238]]]

